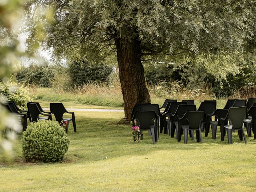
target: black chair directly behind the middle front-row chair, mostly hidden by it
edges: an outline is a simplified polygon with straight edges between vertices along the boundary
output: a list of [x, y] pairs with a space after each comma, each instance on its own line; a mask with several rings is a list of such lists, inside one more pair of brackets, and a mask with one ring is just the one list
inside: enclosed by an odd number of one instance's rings
[[[178, 127], [179, 127], [179, 118], [183, 117], [184, 114], [186, 114], [187, 111], [196, 111], [196, 105], [179, 105], [176, 112], [172, 114], [171, 116], [171, 127], [170, 127], [170, 132], [171, 132], [171, 137], [174, 137], [174, 131], [176, 130], [176, 139], [179, 140], [179, 135], [178, 135]], [[174, 127], [175, 125], [175, 127]], [[181, 135], [180, 135], [181, 137]], [[192, 140], [194, 140], [193, 136], [193, 131], [190, 132], [190, 137]]]

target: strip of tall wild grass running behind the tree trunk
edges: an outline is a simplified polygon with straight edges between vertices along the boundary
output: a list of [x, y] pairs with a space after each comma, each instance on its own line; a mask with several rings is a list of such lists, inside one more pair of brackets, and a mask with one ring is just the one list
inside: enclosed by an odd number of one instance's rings
[[[82, 86], [67, 87], [60, 83], [54, 84], [53, 88], [30, 87], [30, 96], [36, 96], [36, 100], [47, 102], [72, 102], [77, 104], [91, 104], [96, 106], [123, 107], [123, 97], [120, 82], [118, 79], [111, 83], [90, 83]], [[199, 102], [203, 100], [215, 99], [209, 88], [198, 88], [190, 90], [180, 86], [177, 82], [172, 82], [171, 86], [160, 82], [156, 86], [148, 86], [151, 102], [162, 105], [166, 98], [187, 100], [194, 99]]]

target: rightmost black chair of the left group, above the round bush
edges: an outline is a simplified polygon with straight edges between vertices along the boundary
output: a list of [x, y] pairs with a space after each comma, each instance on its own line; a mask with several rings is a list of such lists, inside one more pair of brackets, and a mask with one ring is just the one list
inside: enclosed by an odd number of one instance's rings
[[[52, 114], [54, 114], [56, 121], [68, 122], [66, 133], [68, 133], [68, 125], [70, 121], [73, 122], [74, 132], [76, 132], [76, 119], [74, 112], [68, 112], [62, 103], [50, 103], [50, 111]], [[72, 118], [63, 118], [64, 113], [72, 114]]]

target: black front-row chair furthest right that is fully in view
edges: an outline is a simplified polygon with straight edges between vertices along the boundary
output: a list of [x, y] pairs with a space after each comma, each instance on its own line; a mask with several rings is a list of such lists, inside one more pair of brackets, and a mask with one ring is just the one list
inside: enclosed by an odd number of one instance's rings
[[243, 107], [230, 107], [226, 118], [221, 118], [220, 121], [224, 124], [225, 120], [228, 120], [229, 124], [224, 125], [224, 129], [221, 126], [221, 140], [224, 141], [224, 137], [227, 131], [228, 134], [228, 143], [232, 143], [232, 131], [237, 130], [240, 141], [243, 140], [242, 135], [244, 136], [244, 141], [246, 142], [246, 136], [244, 133], [244, 119], [247, 115], [246, 106]]

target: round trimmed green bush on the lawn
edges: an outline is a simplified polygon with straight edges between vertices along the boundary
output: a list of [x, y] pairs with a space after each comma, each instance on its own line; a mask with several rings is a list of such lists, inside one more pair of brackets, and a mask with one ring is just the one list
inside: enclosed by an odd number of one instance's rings
[[26, 161], [59, 162], [63, 160], [70, 141], [57, 121], [39, 121], [28, 125], [22, 138]]

